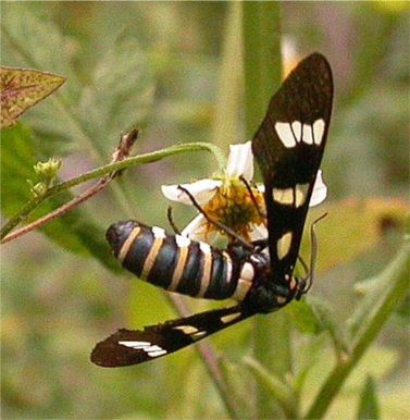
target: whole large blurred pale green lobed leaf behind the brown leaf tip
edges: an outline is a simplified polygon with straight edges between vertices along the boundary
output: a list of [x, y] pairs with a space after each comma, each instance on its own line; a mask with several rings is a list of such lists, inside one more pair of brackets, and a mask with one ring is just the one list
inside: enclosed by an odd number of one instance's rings
[[24, 115], [35, 134], [48, 140], [39, 152], [87, 150], [97, 163], [107, 162], [121, 133], [144, 125], [152, 103], [151, 73], [136, 41], [114, 34], [105, 55], [87, 74], [89, 85], [83, 86], [69, 60], [71, 39], [21, 4], [3, 9], [3, 55], [11, 64], [48, 69], [67, 78], [59, 95]]

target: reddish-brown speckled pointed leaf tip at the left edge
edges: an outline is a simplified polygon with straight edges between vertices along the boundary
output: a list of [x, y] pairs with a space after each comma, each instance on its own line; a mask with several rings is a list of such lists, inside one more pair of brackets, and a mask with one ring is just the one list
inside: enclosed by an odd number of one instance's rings
[[28, 108], [58, 89], [65, 78], [36, 70], [0, 67], [0, 126], [10, 127]]

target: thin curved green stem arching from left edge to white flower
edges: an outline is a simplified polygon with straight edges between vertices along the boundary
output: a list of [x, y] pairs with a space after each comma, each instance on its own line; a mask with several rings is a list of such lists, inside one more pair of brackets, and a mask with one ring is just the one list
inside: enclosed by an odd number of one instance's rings
[[185, 153], [188, 151], [199, 151], [199, 150], [206, 150], [213, 153], [218, 161], [219, 170], [222, 171], [223, 168], [225, 168], [225, 158], [222, 151], [216, 147], [215, 145], [209, 144], [209, 143], [187, 143], [184, 145], [175, 145], [167, 147], [162, 150], [157, 150], [150, 153], [139, 155], [135, 156], [133, 158], [128, 158], [126, 160], [123, 160], [121, 162], [110, 163], [103, 166], [100, 166], [98, 169], [95, 169], [92, 171], [89, 171], [83, 175], [76, 176], [72, 180], [65, 181], [63, 183], [60, 183], [53, 187], [51, 187], [42, 197], [35, 197], [32, 200], [29, 200], [13, 218], [11, 218], [4, 226], [1, 228], [0, 238], [3, 239], [4, 236], [11, 232], [18, 223], [21, 223], [24, 219], [28, 217], [28, 214], [35, 210], [45, 199], [61, 193], [63, 190], [66, 190], [69, 188], [72, 188], [76, 185], [79, 185], [82, 183], [85, 183], [90, 180], [95, 180], [98, 177], [101, 177], [105, 174], [116, 172], [120, 170], [124, 170], [127, 168], [135, 166], [137, 164], [142, 163], [152, 163], [157, 162], [163, 158], [166, 158], [172, 155], [177, 153]]

